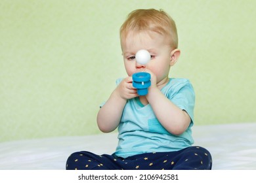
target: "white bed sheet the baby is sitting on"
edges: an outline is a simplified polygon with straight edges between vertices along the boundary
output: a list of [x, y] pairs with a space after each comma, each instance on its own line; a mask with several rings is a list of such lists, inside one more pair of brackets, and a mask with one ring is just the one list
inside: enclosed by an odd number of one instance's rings
[[[211, 152], [213, 169], [256, 169], [256, 123], [193, 127], [195, 144]], [[112, 154], [117, 134], [56, 137], [0, 143], [2, 170], [62, 170], [72, 152]]]

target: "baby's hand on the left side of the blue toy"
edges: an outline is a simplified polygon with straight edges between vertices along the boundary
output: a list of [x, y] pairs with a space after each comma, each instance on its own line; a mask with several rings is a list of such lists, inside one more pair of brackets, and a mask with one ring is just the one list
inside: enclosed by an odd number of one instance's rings
[[137, 89], [133, 87], [133, 78], [131, 76], [124, 78], [116, 88], [117, 93], [122, 99], [132, 99], [138, 97]]

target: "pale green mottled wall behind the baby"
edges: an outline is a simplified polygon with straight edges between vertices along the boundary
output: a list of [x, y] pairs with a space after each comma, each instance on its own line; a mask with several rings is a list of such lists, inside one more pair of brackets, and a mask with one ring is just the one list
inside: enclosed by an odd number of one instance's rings
[[100, 133], [126, 76], [119, 27], [136, 8], [177, 23], [171, 77], [196, 91], [196, 125], [256, 122], [256, 1], [0, 1], [0, 141]]

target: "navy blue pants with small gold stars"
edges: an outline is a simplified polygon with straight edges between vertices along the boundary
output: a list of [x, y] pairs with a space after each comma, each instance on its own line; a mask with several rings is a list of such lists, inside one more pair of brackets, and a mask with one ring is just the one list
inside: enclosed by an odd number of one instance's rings
[[211, 169], [211, 154], [200, 146], [176, 152], [153, 152], [120, 158], [115, 154], [96, 155], [81, 151], [66, 162], [67, 170], [203, 170]]

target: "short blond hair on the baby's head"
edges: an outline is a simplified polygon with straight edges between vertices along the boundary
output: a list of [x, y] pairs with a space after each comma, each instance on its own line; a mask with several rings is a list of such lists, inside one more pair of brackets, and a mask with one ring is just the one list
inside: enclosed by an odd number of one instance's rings
[[163, 10], [133, 10], [120, 27], [121, 44], [123, 44], [130, 31], [137, 33], [140, 31], [153, 31], [159, 33], [167, 37], [167, 41], [169, 41], [168, 43], [173, 49], [178, 48], [176, 24], [171, 16]]

